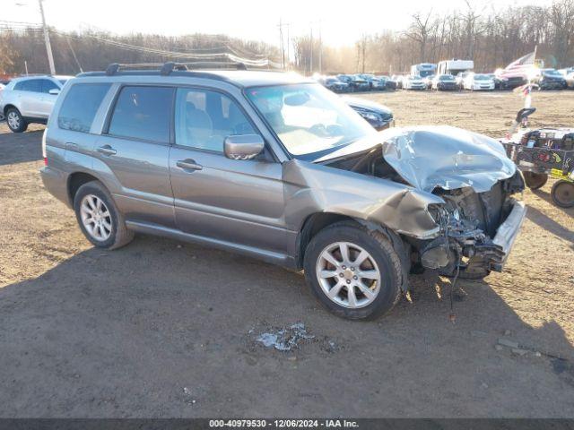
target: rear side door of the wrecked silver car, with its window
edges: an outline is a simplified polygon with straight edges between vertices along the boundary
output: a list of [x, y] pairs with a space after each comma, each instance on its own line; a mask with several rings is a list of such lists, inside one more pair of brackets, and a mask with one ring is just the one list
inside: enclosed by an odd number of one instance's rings
[[94, 149], [94, 168], [109, 175], [126, 219], [174, 227], [170, 184], [170, 129], [175, 89], [119, 89], [108, 125]]

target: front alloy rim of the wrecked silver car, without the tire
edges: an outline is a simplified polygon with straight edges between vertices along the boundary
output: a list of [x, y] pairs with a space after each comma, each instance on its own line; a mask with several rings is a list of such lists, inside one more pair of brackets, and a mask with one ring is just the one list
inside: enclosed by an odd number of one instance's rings
[[327, 245], [319, 255], [316, 272], [326, 297], [351, 309], [370, 305], [380, 289], [377, 262], [350, 242]]

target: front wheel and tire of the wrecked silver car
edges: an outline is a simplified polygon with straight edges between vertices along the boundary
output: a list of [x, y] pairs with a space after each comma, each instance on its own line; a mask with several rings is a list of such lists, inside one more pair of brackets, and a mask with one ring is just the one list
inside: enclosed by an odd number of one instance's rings
[[352, 319], [373, 319], [401, 296], [401, 259], [386, 235], [339, 222], [314, 236], [305, 251], [305, 277], [325, 307]]

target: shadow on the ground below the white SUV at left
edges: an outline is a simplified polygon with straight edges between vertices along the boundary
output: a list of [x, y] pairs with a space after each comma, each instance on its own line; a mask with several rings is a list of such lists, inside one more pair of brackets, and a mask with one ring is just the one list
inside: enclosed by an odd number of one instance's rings
[[42, 159], [43, 130], [26, 133], [12, 133], [6, 127], [6, 133], [0, 133], [0, 166], [36, 161]]

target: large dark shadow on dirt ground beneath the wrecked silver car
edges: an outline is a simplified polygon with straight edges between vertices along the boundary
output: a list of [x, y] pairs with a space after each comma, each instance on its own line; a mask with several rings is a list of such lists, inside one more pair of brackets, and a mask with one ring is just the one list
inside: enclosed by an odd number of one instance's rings
[[[451, 310], [448, 280], [413, 277], [411, 301], [350, 322], [247, 257], [142, 236], [89, 249], [0, 288], [0, 416], [574, 417], [561, 325], [525, 323], [495, 280], [459, 280]], [[314, 337], [257, 342], [293, 323]]]

